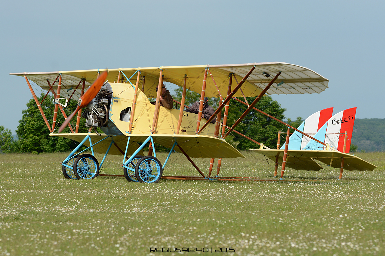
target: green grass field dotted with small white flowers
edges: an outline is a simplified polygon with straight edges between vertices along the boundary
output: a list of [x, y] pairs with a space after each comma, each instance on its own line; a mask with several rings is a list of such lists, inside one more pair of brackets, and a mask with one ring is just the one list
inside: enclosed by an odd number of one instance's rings
[[[385, 254], [385, 153], [357, 154], [378, 168], [340, 181], [325, 168], [285, 172], [308, 181], [157, 184], [66, 180], [66, 155], [0, 155], [0, 256]], [[254, 157], [226, 159], [222, 170], [273, 179], [273, 165]], [[171, 160], [164, 175], [197, 175], [179, 153]], [[102, 173], [122, 174], [120, 161], [109, 157]], [[151, 251], [162, 247], [176, 252]]]

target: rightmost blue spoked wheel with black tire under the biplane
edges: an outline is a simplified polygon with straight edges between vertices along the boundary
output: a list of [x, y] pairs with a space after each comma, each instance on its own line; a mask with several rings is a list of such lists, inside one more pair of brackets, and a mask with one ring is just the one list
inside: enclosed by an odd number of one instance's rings
[[140, 182], [157, 183], [162, 173], [161, 162], [154, 156], [144, 156], [136, 164], [135, 175]]

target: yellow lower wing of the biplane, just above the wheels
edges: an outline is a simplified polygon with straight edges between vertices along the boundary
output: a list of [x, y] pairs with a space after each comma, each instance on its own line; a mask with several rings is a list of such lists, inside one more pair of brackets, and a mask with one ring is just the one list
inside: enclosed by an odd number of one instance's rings
[[[88, 133], [51, 133], [50, 136], [58, 136], [69, 138], [78, 142], [81, 142]], [[107, 137], [107, 135], [102, 134], [98, 136], [95, 133], [89, 133], [92, 143], [96, 143], [99, 140]], [[127, 155], [132, 155], [141, 145], [141, 142], [145, 141], [150, 134], [141, 134], [141, 135], [129, 135], [130, 144], [127, 149]], [[174, 142], [182, 148], [186, 154], [193, 158], [236, 158], [244, 156], [231, 146], [226, 141], [215, 138], [207, 135], [163, 135], [163, 134], [151, 134], [155, 143], [159, 143], [162, 146], [171, 148]], [[110, 143], [113, 140], [122, 151], [126, 149], [127, 145], [127, 136], [117, 135], [111, 136], [110, 138], [101, 141], [94, 146], [94, 150], [100, 154], [104, 154]], [[86, 146], [89, 146], [89, 141], [85, 143]], [[109, 154], [111, 155], [123, 155], [117, 146], [112, 145], [110, 148]], [[181, 152], [181, 150], [176, 146], [175, 151]], [[143, 155], [143, 151], [139, 153]]]

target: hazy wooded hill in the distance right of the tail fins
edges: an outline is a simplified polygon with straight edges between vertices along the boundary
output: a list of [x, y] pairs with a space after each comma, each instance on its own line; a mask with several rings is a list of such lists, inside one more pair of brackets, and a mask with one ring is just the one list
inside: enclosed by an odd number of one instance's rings
[[358, 146], [357, 151], [385, 151], [385, 119], [356, 118], [352, 143]]

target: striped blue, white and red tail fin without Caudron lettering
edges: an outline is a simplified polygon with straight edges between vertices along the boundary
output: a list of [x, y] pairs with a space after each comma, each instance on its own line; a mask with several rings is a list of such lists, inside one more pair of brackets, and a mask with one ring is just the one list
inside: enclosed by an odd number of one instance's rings
[[[298, 126], [298, 130], [308, 134], [308, 135], [315, 135], [318, 130], [323, 126], [323, 124], [331, 117], [333, 114], [333, 108], [325, 108], [323, 110], [317, 111], [313, 115], [309, 116], [301, 123], [300, 126]], [[324, 140], [324, 139], [323, 139]], [[295, 131], [289, 138], [289, 146], [288, 149], [290, 150], [299, 150], [303, 149], [308, 142], [310, 141], [310, 138], [302, 135], [298, 131]], [[281, 146], [281, 150], [285, 149], [285, 144]]]

